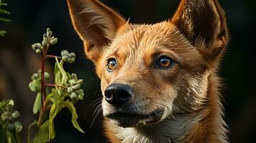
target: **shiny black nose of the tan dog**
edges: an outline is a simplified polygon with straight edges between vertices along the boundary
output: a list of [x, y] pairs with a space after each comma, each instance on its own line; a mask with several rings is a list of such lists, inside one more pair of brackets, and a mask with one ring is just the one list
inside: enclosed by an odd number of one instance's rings
[[131, 100], [133, 89], [125, 84], [110, 84], [105, 89], [105, 100], [113, 106], [120, 107]]

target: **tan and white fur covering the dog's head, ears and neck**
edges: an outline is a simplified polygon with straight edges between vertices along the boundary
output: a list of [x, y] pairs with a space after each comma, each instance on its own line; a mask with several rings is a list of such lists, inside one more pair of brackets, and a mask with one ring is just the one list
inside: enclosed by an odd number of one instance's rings
[[[181, 0], [170, 21], [142, 25], [129, 24], [96, 0], [67, 2], [103, 93], [113, 83], [134, 91], [121, 108], [103, 98], [103, 115], [148, 115], [124, 121], [105, 118], [110, 142], [227, 142], [217, 69], [228, 31], [217, 0]], [[161, 55], [173, 59], [174, 65], [156, 67]], [[106, 70], [110, 58], [118, 63], [111, 72]]]

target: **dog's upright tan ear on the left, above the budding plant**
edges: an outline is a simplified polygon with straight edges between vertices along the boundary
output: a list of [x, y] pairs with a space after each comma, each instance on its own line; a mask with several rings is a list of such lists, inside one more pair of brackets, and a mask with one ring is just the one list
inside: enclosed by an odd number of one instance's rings
[[95, 63], [105, 45], [126, 23], [122, 16], [97, 0], [67, 0], [72, 24], [84, 41], [87, 57]]

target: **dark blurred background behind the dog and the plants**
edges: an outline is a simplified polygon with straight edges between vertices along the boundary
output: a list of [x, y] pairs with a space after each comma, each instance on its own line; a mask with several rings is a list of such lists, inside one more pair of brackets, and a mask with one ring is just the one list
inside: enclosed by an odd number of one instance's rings
[[[104, 0], [132, 23], [153, 24], [169, 19], [179, 0]], [[103, 137], [102, 113], [95, 119], [95, 106], [89, 106], [100, 98], [100, 80], [94, 73], [93, 63], [85, 58], [82, 41], [70, 22], [65, 0], [7, 0], [11, 23], [0, 24], [9, 33], [0, 37], [0, 98], [16, 100], [16, 109], [22, 112], [24, 124], [22, 138], [27, 137], [27, 127], [33, 121], [32, 104], [35, 95], [29, 92], [30, 76], [39, 68], [39, 56], [31, 44], [42, 41], [42, 34], [50, 27], [59, 42], [50, 49], [60, 54], [62, 49], [75, 51], [77, 61], [66, 66], [67, 71], [85, 79], [85, 99], [77, 104], [79, 123], [85, 134], [77, 132], [70, 122], [67, 110], [55, 119], [57, 136], [53, 142], [106, 142]], [[220, 0], [226, 11], [230, 41], [220, 67], [224, 78], [224, 120], [230, 130], [230, 142], [254, 142], [256, 134], [256, 64], [255, 64], [255, 0]], [[53, 61], [47, 64], [52, 71]], [[25, 142], [25, 141], [24, 141]]]

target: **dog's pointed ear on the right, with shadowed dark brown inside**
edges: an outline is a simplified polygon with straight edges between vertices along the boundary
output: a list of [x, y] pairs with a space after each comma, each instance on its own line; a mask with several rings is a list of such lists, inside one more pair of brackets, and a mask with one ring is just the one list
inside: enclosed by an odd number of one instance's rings
[[171, 22], [207, 58], [216, 58], [227, 45], [226, 19], [217, 0], [181, 0]]

